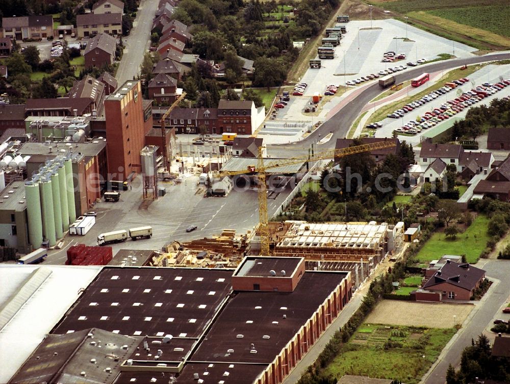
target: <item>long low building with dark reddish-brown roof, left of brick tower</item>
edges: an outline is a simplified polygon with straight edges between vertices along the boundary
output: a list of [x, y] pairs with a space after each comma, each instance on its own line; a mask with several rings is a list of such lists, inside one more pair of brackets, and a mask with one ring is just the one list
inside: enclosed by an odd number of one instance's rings
[[82, 116], [92, 113], [93, 103], [88, 97], [29, 98], [27, 116]]

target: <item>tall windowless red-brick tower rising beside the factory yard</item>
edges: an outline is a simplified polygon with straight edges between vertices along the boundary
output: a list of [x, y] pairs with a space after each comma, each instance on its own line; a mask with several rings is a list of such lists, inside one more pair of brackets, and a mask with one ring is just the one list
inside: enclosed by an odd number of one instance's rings
[[127, 81], [110, 94], [105, 99], [105, 115], [108, 171], [112, 180], [131, 181], [140, 172], [140, 150], [145, 145], [140, 82]]

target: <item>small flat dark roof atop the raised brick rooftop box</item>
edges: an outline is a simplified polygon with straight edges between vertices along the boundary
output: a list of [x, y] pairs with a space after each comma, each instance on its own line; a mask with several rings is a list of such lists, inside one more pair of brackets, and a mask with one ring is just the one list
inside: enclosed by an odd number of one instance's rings
[[282, 271], [285, 271], [286, 276], [291, 276], [301, 262], [301, 258], [246, 258], [235, 276], [267, 277], [272, 276], [271, 270], [278, 277], [283, 276]]

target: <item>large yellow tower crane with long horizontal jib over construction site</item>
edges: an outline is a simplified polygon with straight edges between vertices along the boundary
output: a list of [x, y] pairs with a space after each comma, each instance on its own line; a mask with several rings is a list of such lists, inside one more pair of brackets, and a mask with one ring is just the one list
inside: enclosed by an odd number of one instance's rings
[[305, 155], [301, 157], [293, 157], [290, 159], [274, 159], [266, 160], [262, 157], [263, 148], [259, 147], [259, 157], [256, 165], [250, 165], [248, 169], [241, 171], [223, 171], [220, 172], [220, 177], [235, 176], [239, 174], [257, 173], [258, 181], [258, 195], [259, 195], [259, 233], [261, 238], [261, 255], [269, 256], [269, 227], [268, 227], [268, 212], [267, 212], [267, 187], [266, 187], [266, 170], [282, 167], [285, 165], [299, 164], [302, 162], [311, 162], [324, 159], [341, 158], [354, 153], [371, 151], [374, 149], [382, 149], [394, 147], [395, 142], [391, 140], [383, 140], [370, 144], [355, 145], [342, 149], [328, 149], [322, 152], [314, 153], [314, 155]]

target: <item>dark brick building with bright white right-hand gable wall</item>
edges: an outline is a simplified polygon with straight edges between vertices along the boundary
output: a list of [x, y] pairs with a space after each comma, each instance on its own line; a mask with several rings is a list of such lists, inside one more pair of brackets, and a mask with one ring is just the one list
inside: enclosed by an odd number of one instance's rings
[[218, 125], [220, 132], [251, 135], [258, 127], [259, 111], [250, 100], [220, 100]]

